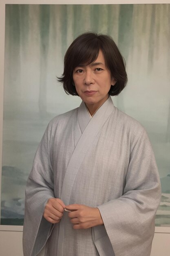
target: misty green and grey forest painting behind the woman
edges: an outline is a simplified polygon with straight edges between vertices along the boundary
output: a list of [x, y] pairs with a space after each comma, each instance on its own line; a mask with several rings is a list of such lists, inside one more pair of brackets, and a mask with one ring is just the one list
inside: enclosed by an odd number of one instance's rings
[[56, 76], [74, 38], [109, 34], [128, 85], [113, 97], [146, 128], [162, 185], [156, 226], [170, 227], [170, 4], [6, 4], [1, 225], [23, 225], [24, 189], [48, 122], [76, 108]]

